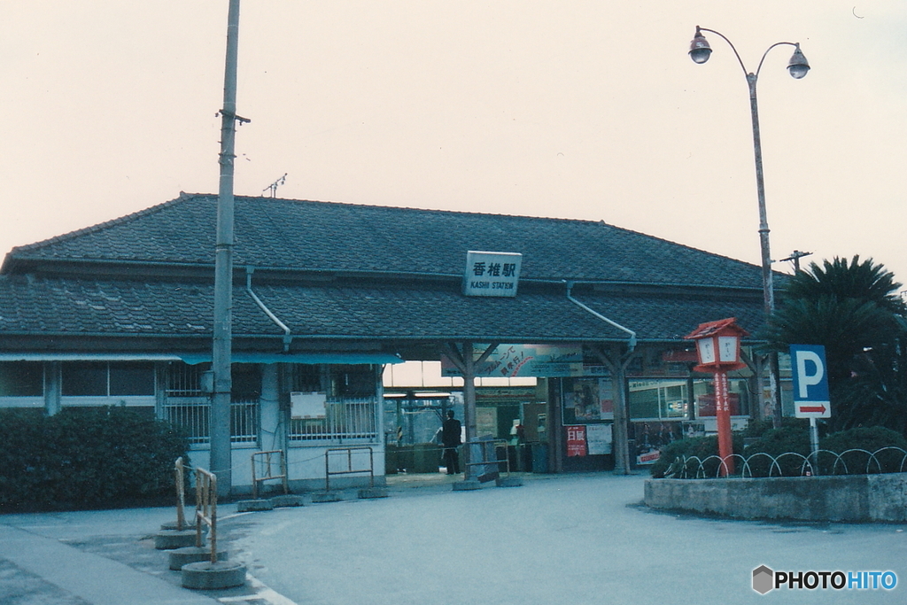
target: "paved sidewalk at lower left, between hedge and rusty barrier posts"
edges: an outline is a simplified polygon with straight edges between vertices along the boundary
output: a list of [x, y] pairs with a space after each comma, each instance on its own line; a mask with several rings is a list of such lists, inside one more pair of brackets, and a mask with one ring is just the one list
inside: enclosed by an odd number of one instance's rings
[[[219, 507], [229, 541], [235, 505]], [[239, 515], [241, 516], [241, 515]], [[169, 554], [154, 548], [173, 508], [0, 516], [0, 603], [15, 605], [286, 605], [254, 578], [245, 587], [181, 586]], [[232, 553], [231, 553], [232, 556]]]

